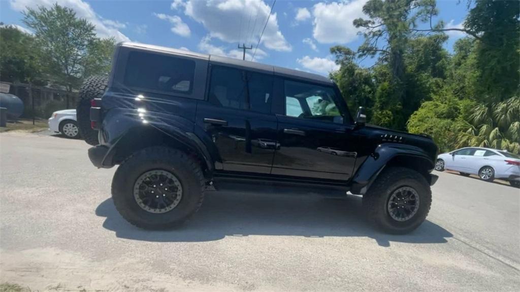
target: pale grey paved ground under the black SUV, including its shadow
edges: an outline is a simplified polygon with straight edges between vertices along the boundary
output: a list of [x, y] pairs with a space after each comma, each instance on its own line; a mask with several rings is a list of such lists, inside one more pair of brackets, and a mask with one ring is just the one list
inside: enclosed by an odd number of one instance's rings
[[[520, 190], [447, 172], [411, 234], [360, 198], [213, 192], [183, 228], [126, 223], [81, 140], [0, 135], [0, 282], [47, 291], [513, 291]], [[516, 288], [515, 288], [516, 287]]]

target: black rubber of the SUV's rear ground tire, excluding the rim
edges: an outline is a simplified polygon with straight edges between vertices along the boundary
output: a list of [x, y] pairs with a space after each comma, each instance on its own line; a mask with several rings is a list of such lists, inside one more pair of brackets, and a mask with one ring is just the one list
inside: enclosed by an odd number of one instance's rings
[[[150, 213], [134, 198], [137, 178], [154, 169], [171, 172], [183, 188], [178, 205], [166, 213]], [[204, 176], [197, 162], [184, 152], [168, 147], [145, 148], [126, 158], [115, 171], [112, 199], [119, 214], [129, 223], [144, 229], [170, 229], [178, 227], [199, 210], [204, 200]]]

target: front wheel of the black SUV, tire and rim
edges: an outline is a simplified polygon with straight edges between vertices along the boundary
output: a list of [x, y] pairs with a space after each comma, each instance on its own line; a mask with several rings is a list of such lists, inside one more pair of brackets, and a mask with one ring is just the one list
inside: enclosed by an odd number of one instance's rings
[[430, 184], [419, 172], [389, 167], [363, 195], [369, 221], [387, 233], [405, 234], [421, 225], [432, 204]]

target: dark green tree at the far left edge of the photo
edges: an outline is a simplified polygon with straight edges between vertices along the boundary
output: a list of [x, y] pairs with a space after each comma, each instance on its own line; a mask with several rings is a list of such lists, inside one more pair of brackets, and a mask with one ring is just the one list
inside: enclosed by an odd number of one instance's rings
[[0, 28], [0, 78], [6, 82], [44, 85], [41, 54], [34, 37], [14, 26]]

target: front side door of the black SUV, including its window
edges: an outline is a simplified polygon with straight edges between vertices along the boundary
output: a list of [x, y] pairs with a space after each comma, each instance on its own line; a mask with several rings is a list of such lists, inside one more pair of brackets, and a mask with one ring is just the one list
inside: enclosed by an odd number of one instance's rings
[[332, 86], [279, 79], [278, 140], [271, 174], [347, 181], [357, 153], [346, 106]]

